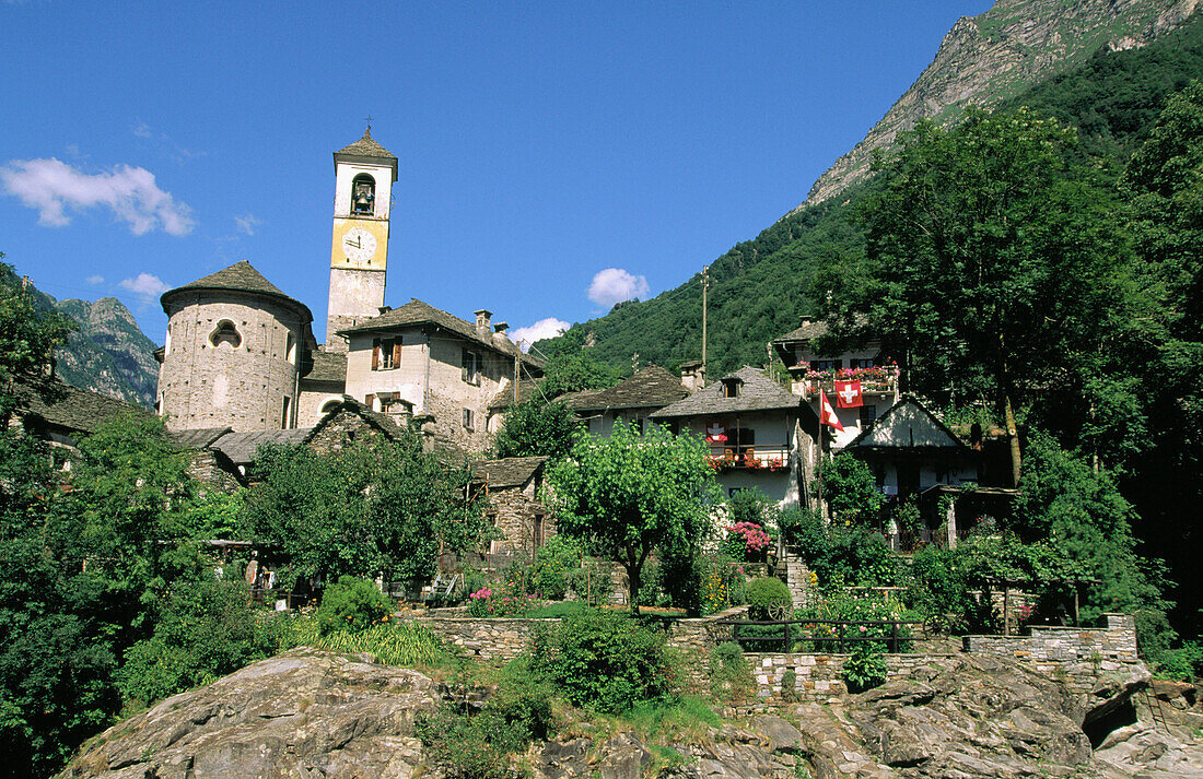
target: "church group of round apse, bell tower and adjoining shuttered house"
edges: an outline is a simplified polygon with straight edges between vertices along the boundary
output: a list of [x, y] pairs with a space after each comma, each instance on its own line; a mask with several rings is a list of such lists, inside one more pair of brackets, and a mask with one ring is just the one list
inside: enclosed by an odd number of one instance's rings
[[313, 428], [350, 396], [393, 423], [420, 418], [437, 445], [485, 450], [497, 398], [543, 363], [486, 310], [472, 323], [416, 299], [384, 304], [396, 180], [397, 157], [371, 132], [334, 153], [324, 345], [309, 309], [245, 261], [164, 293], [158, 408], [171, 429]]

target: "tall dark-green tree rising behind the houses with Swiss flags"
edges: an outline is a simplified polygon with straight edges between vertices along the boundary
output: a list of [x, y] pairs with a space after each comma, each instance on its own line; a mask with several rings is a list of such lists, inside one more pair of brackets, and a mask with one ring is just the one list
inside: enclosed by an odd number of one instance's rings
[[1023, 404], [1069, 394], [1089, 409], [1125, 388], [1084, 381], [1131, 315], [1121, 209], [1074, 132], [1026, 111], [921, 124], [877, 168], [866, 264], [828, 268], [816, 289], [831, 290], [837, 332], [882, 338], [903, 388], [990, 398], [1018, 482]]

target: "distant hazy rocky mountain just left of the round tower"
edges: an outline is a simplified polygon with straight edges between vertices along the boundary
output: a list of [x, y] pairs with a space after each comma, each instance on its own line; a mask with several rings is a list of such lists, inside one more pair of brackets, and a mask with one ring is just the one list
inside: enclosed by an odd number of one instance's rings
[[95, 303], [49, 299], [79, 328], [54, 353], [59, 377], [75, 387], [153, 408], [159, 385], [155, 345], [138, 329], [130, 310], [117, 298]]

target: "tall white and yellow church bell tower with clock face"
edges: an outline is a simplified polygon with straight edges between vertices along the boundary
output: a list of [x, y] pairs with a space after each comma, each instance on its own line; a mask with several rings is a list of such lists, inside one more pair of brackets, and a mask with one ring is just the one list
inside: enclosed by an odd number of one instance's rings
[[334, 151], [334, 239], [330, 251], [326, 350], [346, 351], [338, 331], [378, 316], [389, 256], [389, 201], [397, 157], [363, 137]]

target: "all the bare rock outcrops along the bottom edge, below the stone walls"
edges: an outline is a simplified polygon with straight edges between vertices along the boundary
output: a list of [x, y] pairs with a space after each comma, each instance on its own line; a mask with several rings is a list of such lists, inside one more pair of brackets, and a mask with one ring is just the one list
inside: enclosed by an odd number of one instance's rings
[[[1203, 778], [1198, 744], [1138, 716], [1133, 694], [1146, 682], [1137, 666], [1083, 708], [1057, 680], [1014, 661], [946, 655], [911, 679], [662, 747], [683, 757], [672, 775], [695, 779]], [[61, 777], [437, 778], [446, 773], [427, 765], [414, 719], [439, 703], [437, 685], [415, 671], [294, 649], [115, 725]], [[654, 765], [629, 732], [553, 738], [518, 760], [535, 779], [639, 779]]]

